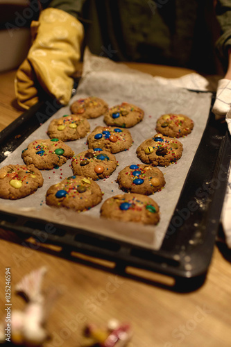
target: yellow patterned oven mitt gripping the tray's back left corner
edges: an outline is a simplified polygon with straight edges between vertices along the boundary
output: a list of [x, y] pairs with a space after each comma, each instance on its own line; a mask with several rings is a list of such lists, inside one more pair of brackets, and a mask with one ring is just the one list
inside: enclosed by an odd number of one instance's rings
[[83, 25], [69, 13], [46, 8], [31, 24], [33, 44], [15, 76], [19, 105], [28, 109], [39, 100], [40, 86], [62, 105], [71, 98], [76, 63], [80, 59]]

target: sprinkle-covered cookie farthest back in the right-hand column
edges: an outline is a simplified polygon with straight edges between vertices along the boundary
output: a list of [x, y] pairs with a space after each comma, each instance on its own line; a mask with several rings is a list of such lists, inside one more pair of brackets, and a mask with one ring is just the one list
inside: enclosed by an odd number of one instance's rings
[[162, 115], [157, 119], [157, 133], [169, 137], [182, 137], [191, 133], [194, 128], [194, 121], [184, 115]]

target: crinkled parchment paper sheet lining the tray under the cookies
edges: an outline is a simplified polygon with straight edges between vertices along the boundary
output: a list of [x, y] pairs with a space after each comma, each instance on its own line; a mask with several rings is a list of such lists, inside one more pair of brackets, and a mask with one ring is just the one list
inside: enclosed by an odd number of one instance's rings
[[[116, 171], [105, 180], [98, 180], [97, 183], [104, 192], [103, 201], [106, 198], [123, 194], [118, 188], [115, 180], [119, 171], [130, 164], [141, 163], [137, 158], [136, 149], [144, 139], [155, 135], [156, 120], [160, 115], [173, 112], [187, 115], [194, 120], [194, 130], [190, 135], [180, 138], [184, 151], [182, 158], [177, 163], [169, 167], [159, 167], [164, 174], [166, 186], [161, 192], [153, 194], [151, 197], [160, 206], [160, 223], [157, 226], [142, 226], [137, 223], [122, 223], [101, 219], [99, 211], [101, 204], [87, 212], [71, 212], [65, 209], [50, 208], [45, 205], [46, 190], [53, 184], [58, 183], [62, 178], [72, 175], [71, 160], [59, 169], [51, 171], [41, 171], [44, 177], [44, 186], [32, 194], [18, 201], [6, 201], [0, 199], [0, 210], [10, 210], [25, 216], [40, 217], [50, 223], [61, 223], [63, 226], [75, 226], [102, 235], [108, 235], [116, 239], [121, 239], [132, 244], [159, 249], [169, 225], [174, 208], [180, 196], [182, 185], [184, 184], [187, 172], [196, 153], [196, 149], [203, 135], [203, 130], [209, 115], [209, 107], [212, 94], [207, 92], [189, 92], [180, 87], [162, 85], [155, 81], [151, 75], [129, 69], [126, 65], [112, 62], [107, 58], [92, 56], [85, 53], [83, 65], [83, 79], [78, 86], [77, 94], [71, 99], [69, 105], [76, 99], [86, 96], [99, 96], [104, 99], [110, 107], [123, 101], [134, 103], [145, 112], [144, 120], [130, 128], [130, 133], [134, 144], [129, 151], [115, 154], [119, 166]], [[48, 110], [49, 112], [49, 110]], [[35, 139], [49, 138], [46, 134], [47, 127], [51, 119], [70, 114], [69, 106], [61, 108], [46, 123], [38, 128], [18, 149], [10, 153], [8, 158], [1, 163], [1, 167], [6, 164], [23, 164], [21, 153], [27, 145]], [[35, 115], [36, 117], [36, 115]], [[103, 117], [89, 119], [91, 131], [96, 126], [105, 126]], [[79, 139], [67, 144], [80, 153], [87, 149], [86, 139]], [[103, 203], [102, 201], [102, 203]]]

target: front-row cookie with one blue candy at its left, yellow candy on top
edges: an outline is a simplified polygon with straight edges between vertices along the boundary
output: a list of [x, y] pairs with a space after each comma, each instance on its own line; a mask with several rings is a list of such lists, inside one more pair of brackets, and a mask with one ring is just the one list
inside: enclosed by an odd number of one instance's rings
[[84, 176], [70, 176], [46, 192], [46, 205], [86, 211], [102, 201], [102, 192], [94, 180]]

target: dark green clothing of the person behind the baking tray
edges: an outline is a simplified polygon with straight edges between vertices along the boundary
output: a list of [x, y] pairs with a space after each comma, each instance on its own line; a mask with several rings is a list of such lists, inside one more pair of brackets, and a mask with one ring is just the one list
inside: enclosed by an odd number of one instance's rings
[[[231, 0], [51, 0], [85, 26], [85, 44], [116, 61], [216, 73], [231, 46]], [[216, 42], [216, 45], [215, 45]]]

